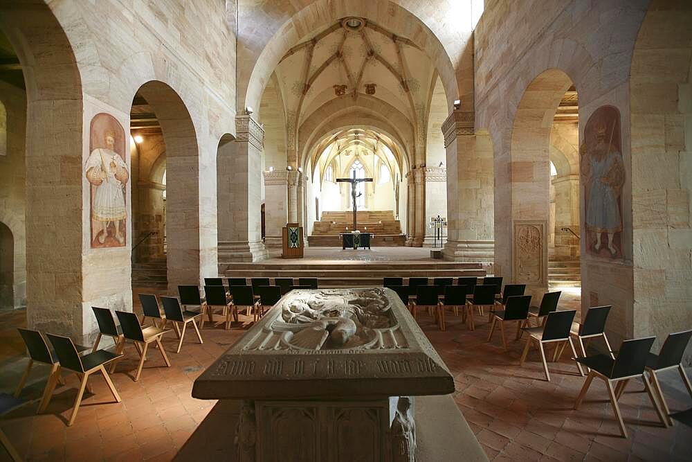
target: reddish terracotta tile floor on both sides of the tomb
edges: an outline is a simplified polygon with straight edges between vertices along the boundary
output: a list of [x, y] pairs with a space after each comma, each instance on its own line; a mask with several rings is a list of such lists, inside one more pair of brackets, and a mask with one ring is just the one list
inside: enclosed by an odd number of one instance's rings
[[[7, 316], [13, 320], [7, 321]], [[13, 339], [8, 347], [5, 342], [12, 337], [12, 323], [21, 323], [19, 319], [16, 312], [0, 315], [5, 357], [7, 348], [15, 348], [17, 343]], [[481, 317], [476, 321], [477, 330], [468, 332], [458, 318], [449, 315], [447, 331], [439, 332], [432, 319], [420, 319], [455, 377], [455, 401], [489, 459], [689, 460], [692, 429], [680, 423], [660, 427], [646, 393], [640, 392], [640, 383], [630, 384], [621, 398], [630, 438], [619, 438], [603, 382], [594, 380], [581, 409], [574, 411], [572, 404], [584, 379], [576, 375], [567, 354], [561, 362], [549, 364], [552, 382], [545, 382], [535, 350], [520, 368], [522, 344], [511, 341], [509, 353], [504, 353], [499, 333], [486, 343], [488, 325]], [[33, 402], [4, 416], [0, 426], [28, 460], [170, 460], [214, 404], [191, 398], [192, 382], [243, 333], [205, 328], [204, 344], [197, 343], [194, 335], [186, 336], [180, 354], [174, 353], [176, 341], [171, 333], [164, 344], [172, 367], [162, 367], [163, 359], [153, 350], [138, 382], [131, 380], [136, 353], [128, 346], [127, 359], [111, 375], [121, 403], [113, 402], [105, 382], [95, 377], [91, 380], [95, 394], [85, 397], [75, 425], [66, 427], [77, 384], [75, 377], [68, 376], [67, 385], [57, 389], [45, 414], [36, 416], [37, 402]], [[0, 372], [3, 391], [12, 389], [18, 380], [8, 370]], [[41, 377], [45, 369], [38, 372], [35, 377]], [[679, 376], [663, 379], [673, 411], [692, 405]], [[42, 386], [39, 381], [28, 387], [23, 398], [37, 399]], [[5, 460], [3, 456], [0, 460]]]

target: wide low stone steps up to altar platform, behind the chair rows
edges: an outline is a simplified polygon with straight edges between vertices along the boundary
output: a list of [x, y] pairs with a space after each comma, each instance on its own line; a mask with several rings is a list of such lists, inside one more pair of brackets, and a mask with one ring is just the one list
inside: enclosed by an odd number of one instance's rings
[[378, 287], [385, 276], [435, 277], [485, 276], [480, 263], [363, 263], [340, 261], [337, 264], [262, 264], [238, 263], [227, 269], [226, 277], [240, 278], [318, 278], [320, 287]]

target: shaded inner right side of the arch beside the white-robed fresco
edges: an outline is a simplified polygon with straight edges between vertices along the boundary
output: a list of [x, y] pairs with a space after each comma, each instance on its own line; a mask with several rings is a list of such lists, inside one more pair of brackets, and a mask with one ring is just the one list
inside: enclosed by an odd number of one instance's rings
[[167, 284], [175, 292], [179, 284], [198, 284], [202, 277], [197, 135], [185, 103], [170, 86], [150, 80], [137, 94], [156, 114], [165, 143]]

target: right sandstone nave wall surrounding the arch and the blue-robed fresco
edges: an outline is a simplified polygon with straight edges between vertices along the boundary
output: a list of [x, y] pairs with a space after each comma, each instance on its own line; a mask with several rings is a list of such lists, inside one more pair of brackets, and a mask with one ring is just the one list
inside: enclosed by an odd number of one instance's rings
[[[495, 155], [495, 273], [509, 281], [514, 277], [518, 253], [513, 225], [524, 217], [538, 221], [547, 221], [548, 217], [548, 140], [554, 109], [546, 105], [540, 93], [525, 94], [525, 90], [545, 71], [559, 69], [568, 77], [566, 84], [571, 80], [576, 85], [580, 121], [587, 121], [602, 105], [619, 110], [625, 164], [621, 256], [608, 259], [586, 255], [585, 238], [581, 240], [582, 310], [612, 304], [608, 330], [616, 343], [635, 333], [629, 64], [647, 6], [643, 0], [488, 1], [474, 36], [475, 127], [490, 132]], [[552, 86], [554, 80], [539, 83], [545, 91], [561, 90]], [[534, 119], [515, 130], [520, 104], [527, 109], [524, 120]], [[529, 148], [533, 143], [535, 152], [525, 151], [525, 158], [519, 159], [512, 152], [513, 140]], [[543, 193], [534, 194], [534, 189]], [[583, 190], [581, 193], [583, 197]], [[583, 218], [581, 199], [581, 223]], [[583, 231], [582, 224], [581, 236], [585, 236]], [[540, 258], [538, 255], [536, 252], [536, 258]], [[537, 284], [534, 295], [540, 296], [545, 288]]]

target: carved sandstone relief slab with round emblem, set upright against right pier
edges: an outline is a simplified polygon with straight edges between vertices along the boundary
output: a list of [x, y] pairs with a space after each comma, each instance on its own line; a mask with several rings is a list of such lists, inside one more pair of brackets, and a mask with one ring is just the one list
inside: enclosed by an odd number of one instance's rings
[[535, 220], [515, 220], [513, 226], [514, 282], [529, 285], [547, 284], [545, 268], [545, 231], [547, 223]]

